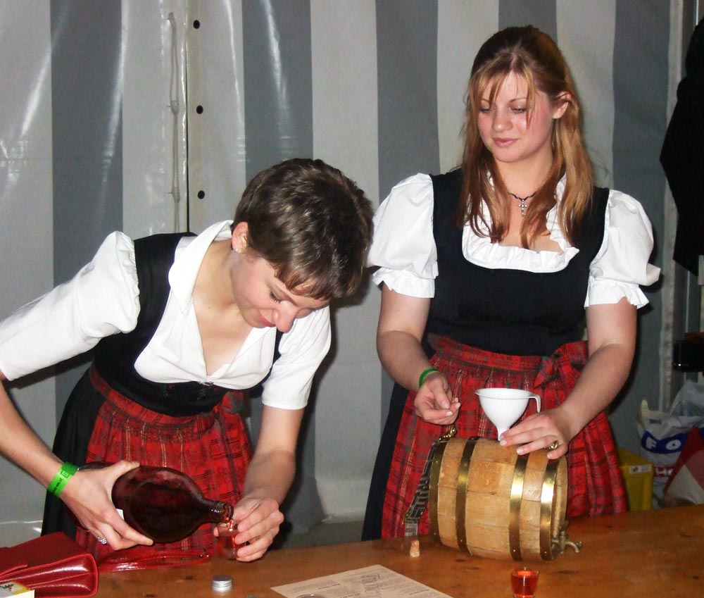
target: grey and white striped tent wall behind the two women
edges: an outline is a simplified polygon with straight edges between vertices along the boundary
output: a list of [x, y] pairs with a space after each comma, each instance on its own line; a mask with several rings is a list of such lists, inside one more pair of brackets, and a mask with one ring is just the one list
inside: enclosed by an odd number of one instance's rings
[[[499, 28], [529, 23], [570, 63], [600, 182], [642, 201], [655, 263], [668, 268], [658, 155], [679, 78], [671, 29], [687, 4], [0, 0], [0, 316], [69, 278], [111, 230], [139, 237], [230, 218], [246, 182], [284, 158], [324, 158], [375, 204], [407, 175], [455, 166], [475, 52]], [[612, 414], [631, 450], [635, 411], [643, 398], [658, 403], [665, 359], [660, 293], [647, 294], [634, 375]], [[296, 530], [363, 512], [390, 389], [378, 309], [369, 288], [334, 310], [287, 505]], [[46, 440], [74, 365], [13, 387]], [[255, 404], [255, 433], [257, 418]], [[0, 480], [0, 504], [11, 505], [0, 520], [39, 518], [32, 480], [4, 461]]]

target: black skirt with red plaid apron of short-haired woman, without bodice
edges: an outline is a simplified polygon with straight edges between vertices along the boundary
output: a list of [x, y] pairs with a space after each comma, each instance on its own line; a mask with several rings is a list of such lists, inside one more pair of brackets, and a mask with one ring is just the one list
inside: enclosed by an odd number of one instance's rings
[[[84, 373], [71, 394], [54, 443], [63, 461], [76, 465], [120, 459], [170, 467], [189, 475], [208, 499], [234, 505], [251, 461], [249, 435], [240, 416], [244, 393], [228, 391], [215, 407], [193, 416], [152, 411], [111, 388], [96, 368]], [[113, 552], [76, 525], [63, 502], [47, 494], [42, 533], [63, 531], [96, 559]], [[213, 554], [210, 523], [178, 542], [153, 544], [155, 551], [206, 549]], [[147, 547], [140, 547], [140, 551]]]

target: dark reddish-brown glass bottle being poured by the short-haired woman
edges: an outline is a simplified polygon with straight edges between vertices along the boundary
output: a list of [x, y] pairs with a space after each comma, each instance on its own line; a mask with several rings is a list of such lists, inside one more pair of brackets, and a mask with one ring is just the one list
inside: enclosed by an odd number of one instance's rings
[[[105, 467], [89, 463], [85, 468]], [[225, 523], [232, 505], [209, 500], [189, 476], [168, 467], [139, 466], [115, 480], [113, 504], [125, 521], [154, 542], [177, 542], [203, 523]]]

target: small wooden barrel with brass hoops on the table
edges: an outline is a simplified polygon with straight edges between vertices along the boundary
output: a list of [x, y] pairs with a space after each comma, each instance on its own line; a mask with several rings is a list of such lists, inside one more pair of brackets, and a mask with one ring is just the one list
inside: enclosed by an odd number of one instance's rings
[[551, 561], [565, 525], [567, 461], [486, 438], [441, 442], [430, 471], [432, 535], [491, 559]]

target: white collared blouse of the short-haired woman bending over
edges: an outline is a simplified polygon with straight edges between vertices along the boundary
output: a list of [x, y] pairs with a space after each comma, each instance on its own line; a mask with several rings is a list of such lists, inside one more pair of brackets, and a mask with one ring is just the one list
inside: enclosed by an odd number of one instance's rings
[[[134, 364], [147, 380], [203, 382], [232, 389], [256, 385], [272, 366], [276, 329], [253, 328], [230, 363], [206, 371], [192, 298], [210, 244], [229, 239], [231, 221], [216, 223], [197, 237], [184, 237], [169, 270], [170, 294], [156, 332]], [[139, 281], [134, 243], [113, 232], [92, 261], [63, 285], [0, 322], [0, 371], [15, 380], [81, 354], [101, 338], [130, 332], [139, 316]], [[262, 401], [281, 409], [302, 409], [313, 375], [330, 347], [329, 308], [294, 321], [282, 335], [280, 357], [265, 382]]]

